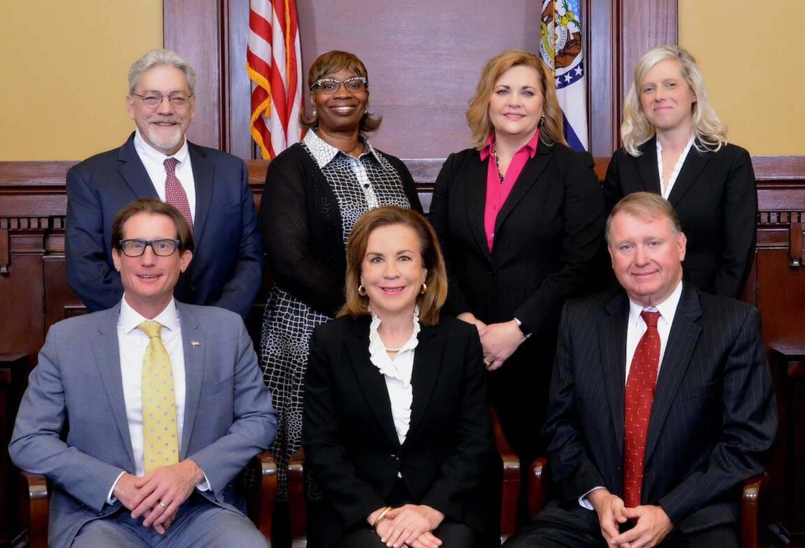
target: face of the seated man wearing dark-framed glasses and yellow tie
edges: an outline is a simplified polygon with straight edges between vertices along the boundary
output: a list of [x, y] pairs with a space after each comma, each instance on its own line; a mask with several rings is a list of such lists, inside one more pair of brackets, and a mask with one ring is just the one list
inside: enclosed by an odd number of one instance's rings
[[[123, 239], [177, 239], [176, 226], [167, 215], [139, 213], [123, 225]], [[112, 250], [114, 268], [120, 272], [123, 295], [131, 308], [146, 318], [154, 318], [167, 306], [179, 275], [192, 259], [192, 252], [177, 249], [173, 255], [155, 255], [151, 246], [139, 257]], [[154, 313], [154, 311], [156, 313]]]

